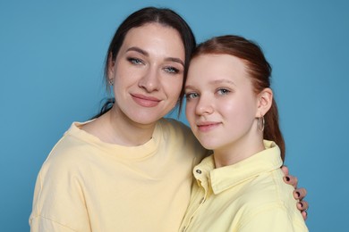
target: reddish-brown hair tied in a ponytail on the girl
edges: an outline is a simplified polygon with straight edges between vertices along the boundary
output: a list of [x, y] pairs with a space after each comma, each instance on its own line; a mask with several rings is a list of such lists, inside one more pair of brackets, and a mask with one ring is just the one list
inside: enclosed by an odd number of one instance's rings
[[[270, 87], [271, 66], [265, 58], [260, 46], [244, 37], [233, 35], [213, 37], [201, 43], [192, 54], [192, 58], [200, 54], [230, 54], [243, 60], [252, 80], [254, 92], [258, 95], [263, 89]], [[277, 103], [273, 102], [264, 115], [265, 128], [263, 137], [275, 141], [281, 150], [281, 158], [285, 160], [285, 141], [278, 123]]]

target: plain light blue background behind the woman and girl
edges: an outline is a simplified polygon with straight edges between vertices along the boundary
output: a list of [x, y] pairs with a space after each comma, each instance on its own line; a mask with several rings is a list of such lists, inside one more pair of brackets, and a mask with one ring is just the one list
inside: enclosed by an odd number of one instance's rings
[[42, 162], [72, 121], [98, 112], [109, 40], [124, 17], [150, 4], [183, 15], [199, 42], [233, 33], [260, 43], [274, 67], [286, 164], [309, 191], [308, 227], [346, 231], [345, 0], [1, 0], [0, 230], [29, 231]]

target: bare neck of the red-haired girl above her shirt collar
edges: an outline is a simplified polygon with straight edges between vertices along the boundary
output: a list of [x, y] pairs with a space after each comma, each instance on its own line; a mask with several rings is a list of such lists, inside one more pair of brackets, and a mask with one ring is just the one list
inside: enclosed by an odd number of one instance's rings
[[241, 139], [235, 141], [234, 144], [219, 147], [214, 150], [213, 154], [216, 169], [241, 162], [255, 153], [260, 153], [264, 149], [262, 137]]

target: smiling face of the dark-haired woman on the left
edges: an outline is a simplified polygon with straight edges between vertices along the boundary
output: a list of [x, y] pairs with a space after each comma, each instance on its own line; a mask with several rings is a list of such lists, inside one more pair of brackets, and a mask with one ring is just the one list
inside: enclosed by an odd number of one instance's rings
[[183, 86], [184, 47], [175, 29], [158, 23], [130, 29], [108, 77], [116, 115], [153, 124], [170, 112]]

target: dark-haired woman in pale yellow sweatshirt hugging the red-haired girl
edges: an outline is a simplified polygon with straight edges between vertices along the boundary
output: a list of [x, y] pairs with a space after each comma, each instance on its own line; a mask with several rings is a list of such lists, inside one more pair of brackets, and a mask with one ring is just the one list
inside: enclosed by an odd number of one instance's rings
[[182, 104], [195, 46], [192, 30], [169, 9], [143, 8], [123, 21], [106, 54], [115, 98], [95, 119], [72, 123], [48, 155], [32, 231], [179, 228], [192, 167], [208, 151], [183, 123], [163, 117]]

